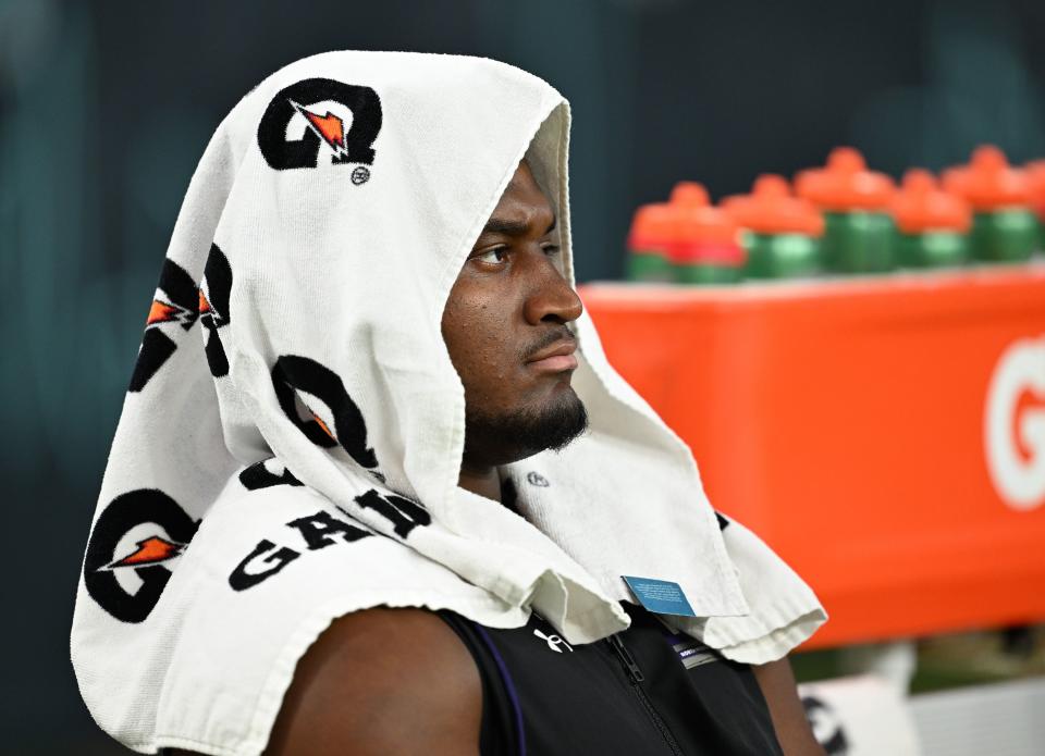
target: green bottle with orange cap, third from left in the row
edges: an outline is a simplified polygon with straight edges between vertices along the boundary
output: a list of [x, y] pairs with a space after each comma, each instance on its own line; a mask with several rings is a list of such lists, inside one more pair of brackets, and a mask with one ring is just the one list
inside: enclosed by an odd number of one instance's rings
[[729, 197], [722, 206], [743, 231], [745, 277], [796, 278], [821, 271], [823, 215], [792, 196], [784, 176], [759, 176], [750, 195]]

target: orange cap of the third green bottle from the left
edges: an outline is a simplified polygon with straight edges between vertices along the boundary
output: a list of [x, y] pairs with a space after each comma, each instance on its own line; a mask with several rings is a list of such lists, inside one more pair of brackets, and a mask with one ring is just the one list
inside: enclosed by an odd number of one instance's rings
[[759, 176], [750, 195], [726, 198], [722, 206], [738, 225], [759, 234], [824, 233], [824, 218], [816, 207], [792, 196], [787, 179], [776, 174]]

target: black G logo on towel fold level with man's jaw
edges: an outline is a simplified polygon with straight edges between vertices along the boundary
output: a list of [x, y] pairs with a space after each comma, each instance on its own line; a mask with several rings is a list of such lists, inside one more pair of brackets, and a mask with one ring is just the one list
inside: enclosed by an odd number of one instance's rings
[[[362, 467], [378, 467], [373, 449], [367, 446], [367, 423], [362, 412], [334, 371], [307, 357], [284, 355], [272, 368], [272, 387], [286, 417], [309, 441], [327, 448], [341, 444]], [[299, 391], [315, 399], [302, 398], [297, 394]], [[333, 427], [317, 414], [318, 405], [309, 406], [316, 400], [327, 406], [327, 417], [334, 421]]]

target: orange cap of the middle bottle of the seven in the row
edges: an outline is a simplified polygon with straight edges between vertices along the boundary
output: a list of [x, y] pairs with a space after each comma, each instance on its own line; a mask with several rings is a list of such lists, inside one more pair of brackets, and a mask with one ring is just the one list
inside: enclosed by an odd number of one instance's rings
[[836, 147], [826, 166], [799, 172], [795, 191], [824, 210], [883, 210], [893, 201], [896, 184], [884, 173], [869, 171], [852, 147]]

